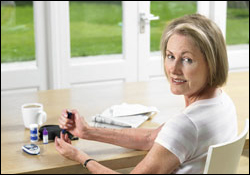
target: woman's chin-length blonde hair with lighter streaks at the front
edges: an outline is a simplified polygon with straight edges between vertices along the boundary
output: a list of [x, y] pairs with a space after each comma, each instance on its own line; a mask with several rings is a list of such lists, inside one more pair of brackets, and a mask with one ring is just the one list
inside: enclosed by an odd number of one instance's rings
[[200, 14], [175, 19], [166, 27], [161, 39], [161, 52], [165, 60], [167, 43], [173, 34], [191, 37], [204, 55], [208, 65], [208, 85], [220, 87], [227, 81], [228, 59], [225, 40], [219, 27]]

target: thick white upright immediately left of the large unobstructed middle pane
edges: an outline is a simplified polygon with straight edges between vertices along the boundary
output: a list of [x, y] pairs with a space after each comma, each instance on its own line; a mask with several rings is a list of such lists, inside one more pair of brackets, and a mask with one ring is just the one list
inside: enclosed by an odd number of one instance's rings
[[69, 87], [69, 2], [47, 1], [47, 45], [49, 89]]

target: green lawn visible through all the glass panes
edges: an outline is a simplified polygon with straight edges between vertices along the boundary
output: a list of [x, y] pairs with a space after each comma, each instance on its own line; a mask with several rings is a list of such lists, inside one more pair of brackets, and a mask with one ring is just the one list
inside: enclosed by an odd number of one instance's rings
[[[35, 59], [33, 8], [1, 5], [1, 63]], [[152, 1], [151, 13], [160, 20], [151, 22], [151, 51], [159, 50], [167, 21], [196, 12], [192, 1]], [[228, 9], [227, 44], [249, 43], [248, 9]], [[12, 20], [10, 20], [12, 19]], [[70, 2], [71, 56], [122, 52], [122, 6], [118, 1]]]

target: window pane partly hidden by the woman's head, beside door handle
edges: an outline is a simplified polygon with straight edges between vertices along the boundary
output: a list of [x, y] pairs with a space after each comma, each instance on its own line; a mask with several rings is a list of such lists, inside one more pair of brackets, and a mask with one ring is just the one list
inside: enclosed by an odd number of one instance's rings
[[151, 13], [160, 19], [150, 23], [150, 50], [160, 50], [161, 35], [170, 20], [196, 12], [196, 1], [151, 1]]

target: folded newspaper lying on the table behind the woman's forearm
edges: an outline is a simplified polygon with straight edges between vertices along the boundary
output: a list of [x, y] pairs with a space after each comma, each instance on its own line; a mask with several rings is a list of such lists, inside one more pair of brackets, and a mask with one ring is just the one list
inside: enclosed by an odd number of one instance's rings
[[92, 117], [92, 126], [103, 128], [138, 128], [149, 117], [159, 112], [156, 107], [140, 104], [114, 105]]

